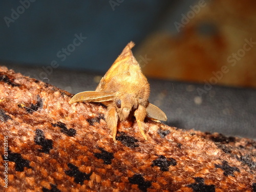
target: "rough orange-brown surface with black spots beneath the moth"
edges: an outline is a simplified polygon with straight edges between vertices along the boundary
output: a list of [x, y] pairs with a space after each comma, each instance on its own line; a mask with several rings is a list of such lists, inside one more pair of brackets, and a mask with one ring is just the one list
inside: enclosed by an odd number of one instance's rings
[[9, 160], [1, 189], [256, 191], [255, 141], [150, 120], [146, 141], [132, 119], [119, 124], [114, 143], [105, 106], [70, 105], [71, 96], [0, 67], [0, 159]]

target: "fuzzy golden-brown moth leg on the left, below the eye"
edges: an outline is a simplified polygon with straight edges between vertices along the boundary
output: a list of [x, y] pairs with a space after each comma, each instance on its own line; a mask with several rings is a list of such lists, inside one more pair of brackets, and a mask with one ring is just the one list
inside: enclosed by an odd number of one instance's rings
[[108, 111], [106, 112], [106, 124], [113, 134], [113, 140], [116, 143], [116, 132], [117, 132], [117, 121], [118, 116], [116, 108], [114, 106], [108, 106]]

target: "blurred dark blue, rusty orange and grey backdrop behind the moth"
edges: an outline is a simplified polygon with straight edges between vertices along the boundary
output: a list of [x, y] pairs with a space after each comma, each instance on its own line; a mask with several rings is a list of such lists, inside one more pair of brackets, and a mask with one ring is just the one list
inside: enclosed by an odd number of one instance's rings
[[77, 93], [94, 90], [132, 40], [168, 125], [256, 138], [255, 7], [253, 0], [1, 1], [0, 61]]

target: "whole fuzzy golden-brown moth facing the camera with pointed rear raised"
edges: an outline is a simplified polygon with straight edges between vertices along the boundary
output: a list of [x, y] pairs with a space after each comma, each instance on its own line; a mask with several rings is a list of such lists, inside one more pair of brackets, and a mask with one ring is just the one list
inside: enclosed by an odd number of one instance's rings
[[69, 101], [75, 102], [101, 102], [107, 108], [105, 120], [112, 131], [116, 142], [117, 125], [119, 121], [136, 118], [142, 136], [144, 133], [144, 119], [166, 121], [167, 117], [157, 106], [148, 102], [150, 84], [142, 74], [139, 63], [133, 56], [131, 49], [134, 42], [129, 42], [122, 53], [115, 60], [111, 68], [100, 80], [95, 91], [77, 93]]

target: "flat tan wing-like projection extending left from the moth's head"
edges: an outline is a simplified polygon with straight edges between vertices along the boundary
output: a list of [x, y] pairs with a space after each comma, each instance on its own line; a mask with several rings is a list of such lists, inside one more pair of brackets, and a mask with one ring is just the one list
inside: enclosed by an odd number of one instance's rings
[[69, 104], [75, 102], [103, 102], [111, 101], [115, 97], [114, 93], [106, 93], [101, 91], [84, 91], [81, 93], [75, 94], [69, 101]]

